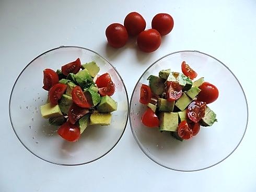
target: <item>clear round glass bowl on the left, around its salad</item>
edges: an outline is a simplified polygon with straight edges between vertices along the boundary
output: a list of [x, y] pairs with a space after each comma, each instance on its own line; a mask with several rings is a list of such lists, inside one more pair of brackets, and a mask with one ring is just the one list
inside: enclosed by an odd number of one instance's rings
[[[63, 64], [80, 58], [82, 63], [95, 61], [99, 74], [108, 72], [115, 83], [112, 98], [118, 110], [112, 113], [109, 126], [89, 126], [77, 142], [62, 139], [48, 119], [41, 117], [40, 105], [48, 92], [42, 89], [43, 70], [60, 69]], [[117, 145], [128, 119], [129, 101], [118, 71], [98, 53], [76, 46], [61, 46], [34, 58], [18, 76], [9, 101], [11, 125], [20, 142], [37, 157], [55, 164], [80, 165], [95, 161]]]

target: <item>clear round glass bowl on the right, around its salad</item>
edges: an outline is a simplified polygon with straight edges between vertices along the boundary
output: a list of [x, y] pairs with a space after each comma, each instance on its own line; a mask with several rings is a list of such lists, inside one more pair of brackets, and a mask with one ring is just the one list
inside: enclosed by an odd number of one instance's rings
[[[141, 116], [146, 105], [139, 103], [141, 84], [148, 84], [149, 75], [158, 76], [161, 69], [168, 68], [181, 72], [182, 61], [191, 65], [198, 78], [204, 77], [219, 90], [218, 99], [209, 104], [218, 122], [201, 127], [199, 134], [183, 142], [168, 131], [145, 127]], [[149, 159], [172, 170], [198, 171], [222, 162], [238, 147], [247, 127], [248, 106], [239, 81], [227, 66], [201, 52], [180, 51], [158, 59], [142, 74], [132, 94], [129, 115], [133, 136]]]

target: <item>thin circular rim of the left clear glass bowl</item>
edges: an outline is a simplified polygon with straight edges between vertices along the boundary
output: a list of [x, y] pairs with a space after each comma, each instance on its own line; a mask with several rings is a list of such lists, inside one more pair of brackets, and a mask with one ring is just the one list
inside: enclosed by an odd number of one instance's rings
[[121, 75], [119, 74], [118, 70], [108, 61], [108, 59], [106, 59], [105, 57], [103, 57], [102, 55], [100, 55], [99, 53], [95, 52], [95, 51], [92, 51], [90, 49], [87, 49], [85, 47], [82, 47], [82, 46], [73, 46], [73, 45], [61, 45], [59, 47], [55, 47], [53, 49], [50, 49], [48, 51], [45, 51], [43, 52], [42, 54], [38, 55], [37, 57], [35, 57], [34, 59], [32, 59], [31, 62], [29, 62], [29, 64], [27, 64], [25, 66], [24, 69], [22, 69], [22, 71], [20, 72], [20, 74], [18, 75], [17, 79], [15, 80], [15, 83], [13, 85], [13, 88], [11, 88], [11, 93], [10, 93], [10, 97], [9, 97], [9, 119], [10, 119], [10, 124], [11, 124], [11, 127], [13, 128], [14, 130], [14, 133], [16, 135], [16, 137], [19, 139], [19, 141], [21, 142], [21, 144], [30, 152], [32, 153], [33, 155], [35, 155], [36, 157], [38, 157], [39, 159], [43, 160], [43, 161], [46, 161], [46, 162], [49, 162], [49, 163], [53, 163], [53, 164], [56, 164], [56, 165], [64, 165], [64, 166], [77, 166], [77, 165], [84, 165], [84, 164], [88, 164], [88, 163], [91, 163], [91, 162], [94, 162], [94, 161], [97, 161], [98, 159], [104, 157], [106, 154], [108, 154], [115, 146], [117, 146], [117, 144], [119, 143], [119, 141], [121, 140], [123, 134], [124, 134], [124, 131], [126, 129], [126, 126], [127, 126], [127, 123], [128, 123], [128, 118], [129, 118], [129, 114], [127, 114], [127, 117], [126, 117], [126, 120], [125, 120], [125, 125], [124, 125], [124, 129], [122, 131], [122, 134], [120, 135], [120, 138], [117, 140], [117, 142], [115, 142], [115, 144], [107, 151], [105, 152], [104, 154], [102, 154], [100, 157], [94, 159], [94, 160], [91, 160], [91, 161], [88, 161], [88, 162], [84, 162], [84, 163], [76, 163], [76, 164], [65, 164], [65, 163], [57, 163], [57, 162], [54, 162], [54, 161], [51, 161], [51, 160], [46, 160], [42, 157], [40, 157], [38, 154], [36, 154], [35, 152], [31, 151], [25, 144], [24, 142], [21, 141], [21, 139], [19, 138], [18, 134], [16, 133], [16, 130], [14, 128], [14, 125], [13, 125], [13, 121], [11, 119], [11, 112], [10, 112], [10, 103], [11, 103], [11, 97], [13, 95], [13, 91], [14, 91], [14, 88], [16, 86], [16, 83], [19, 79], [19, 77], [21, 76], [21, 74], [26, 70], [26, 68], [32, 63], [34, 62], [36, 59], [38, 59], [39, 57], [41, 57], [42, 55], [46, 54], [46, 53], [49, 53], [49, 52], [52, 52], [52, 51], [55, 51], [55, 50], [59, 50], [59, 49], [65, 49], [65, 48], [75, 48], [75, 49], [83, 49], [83, 50], [86, 50], [86, 51], [89, 51], [89, 52], [92, 52], [98, 56], [100, 56], [101, 58], [103, 58], [106, 62], [108, 62], [110, 64], [110, 66], [115, 70], [115, 72], [118, 74], [119, 78], [121, 79], [121, 82], [123, 84], [123, 87], [124, 87], [124, 90], [125, 90], [125, 94], [126, 94], [126, 101], [127, 101], [127, 113], [129, 113], [129, 97], [128, 97], [128, 94], [127, 94], [127, 90], [126, 90], [126, 87], [125, 87], [125, 84], [124, 84], [124, 81], [123, 81], [123, 78], [121, 77]]

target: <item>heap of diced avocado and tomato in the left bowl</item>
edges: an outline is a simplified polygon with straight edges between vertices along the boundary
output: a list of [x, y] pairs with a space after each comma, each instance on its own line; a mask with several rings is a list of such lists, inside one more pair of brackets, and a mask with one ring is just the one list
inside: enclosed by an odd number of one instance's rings
[[117, 102], [111, 96], [115, 85], [108, 73], [98, 75], [96, 62], [65, 64], [56, 71], [43, 70], [43, 89], [48, 102], [40, 107], [43, 118], [60, 125], [57, 133], [67, 141], [77, 141], [89, 125], [110, 125]]

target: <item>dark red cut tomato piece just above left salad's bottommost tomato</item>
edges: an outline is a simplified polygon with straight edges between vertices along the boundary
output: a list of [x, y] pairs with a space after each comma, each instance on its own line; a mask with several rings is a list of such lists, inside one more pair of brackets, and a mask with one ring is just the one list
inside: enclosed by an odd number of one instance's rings
[[68, 120], [70, 123], [75, 124], [76, 121], [89, 113], [89, 110], [83, 107], [79, 107], [76, 104], [72, 104], [68, 111]]

